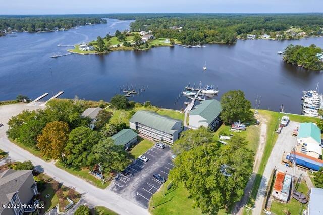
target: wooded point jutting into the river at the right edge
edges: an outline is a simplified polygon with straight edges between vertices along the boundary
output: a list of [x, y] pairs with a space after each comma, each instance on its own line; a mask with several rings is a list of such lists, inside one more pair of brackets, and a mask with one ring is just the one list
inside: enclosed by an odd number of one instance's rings
[[289, 64], [295, 64], [305, 69], [323, 70], [323, 61], [318, 58], [323, 50], [317, 46], [289, 45], [284, 51], [283, 59]]

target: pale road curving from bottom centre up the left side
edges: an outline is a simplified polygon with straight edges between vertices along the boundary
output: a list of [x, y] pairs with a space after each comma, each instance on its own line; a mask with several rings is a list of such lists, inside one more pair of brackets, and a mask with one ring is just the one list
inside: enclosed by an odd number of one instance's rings
[[146, 209], [137, 206], [121, 196], [109, 190], [99, 189], [64, 170], [57, 168], [53, 162], [45, 162], [10, 142], [5, 133], [8, 129], [8, 119], [10, 119], [11, 116], [19, 114], [24, 109], [35, 110], [39, 109], [39, 107], [26, 106], [24, 104], [0, 106], [0, 122], [5, 124], [0, 128], [0, 149], [7, 152], [11, 159], [19, 161], [31, 160], [37, 170], [44, 171], [44, 173], [55, 178], [55, 180], [63, 183], [65, 186], [75, 187], [76, 191], [83, 194], [83, 198], [90, 204], [105, 206], [119, 214], [149, 214]]

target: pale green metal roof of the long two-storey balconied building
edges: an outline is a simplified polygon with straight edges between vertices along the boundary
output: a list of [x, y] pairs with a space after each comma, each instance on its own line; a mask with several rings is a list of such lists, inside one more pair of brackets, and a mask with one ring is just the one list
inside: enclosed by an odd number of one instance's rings
[[137, 111], [130, 119], [130, 122], [138, 122], [168, 134], [174, 134], [175, 131], [178, 131], [178, 129], [173, 129], [177, 122], [182, 123], [181, 120], [176, 120], [169, 116], [160, 115], [152, 111]]

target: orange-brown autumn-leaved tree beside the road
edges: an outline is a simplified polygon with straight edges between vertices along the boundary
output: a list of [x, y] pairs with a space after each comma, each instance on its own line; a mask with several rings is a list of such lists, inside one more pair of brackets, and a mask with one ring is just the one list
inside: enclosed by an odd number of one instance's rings
[[47, 123], [42, 134], [37, 137], [37, 147], [42, 155], [61, 160], [68, 135], [69, 126], [67, 123], [62, 121]]

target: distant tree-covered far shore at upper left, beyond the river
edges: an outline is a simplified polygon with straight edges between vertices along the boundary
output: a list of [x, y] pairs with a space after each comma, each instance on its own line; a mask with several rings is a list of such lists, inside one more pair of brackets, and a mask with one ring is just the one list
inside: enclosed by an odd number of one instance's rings
[[61, 28], [69, 29], [89, 23], [106, 23], [106, 20], [96, 15], [0, 16], [0, 32], [51, 31]]

